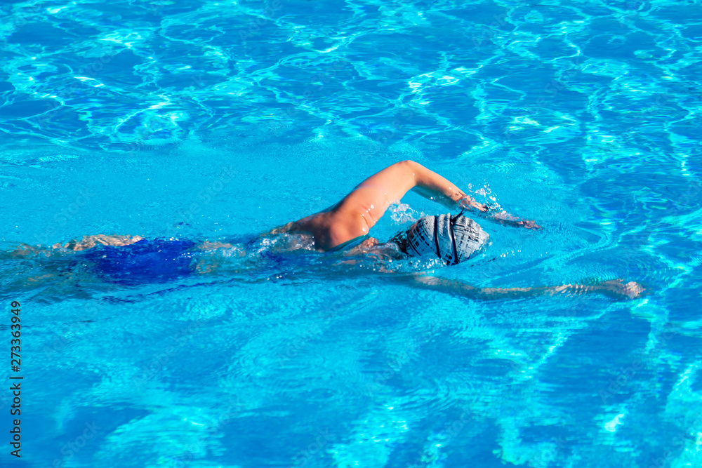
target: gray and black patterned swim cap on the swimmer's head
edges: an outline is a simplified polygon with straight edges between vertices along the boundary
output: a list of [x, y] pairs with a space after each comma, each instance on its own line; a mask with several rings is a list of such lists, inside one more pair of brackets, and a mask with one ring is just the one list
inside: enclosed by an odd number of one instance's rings
[[468, 260], [485, 245], [489, 235], [465, 216], [424, 216], [407, 231], [409, 255], [437, 255], [446, 265]]

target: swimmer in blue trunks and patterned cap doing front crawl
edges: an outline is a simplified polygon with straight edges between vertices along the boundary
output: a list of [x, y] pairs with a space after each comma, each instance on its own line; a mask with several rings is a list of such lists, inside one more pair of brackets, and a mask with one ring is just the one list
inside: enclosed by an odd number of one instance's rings
[[[449, 209], [461, 209], [457, 215], [442, 214], [424, 216], [409, 229], [398, 233], [390, 241], [381, 244], [378, 239], [369, 236], [371, 228], [385, 214], [392, 203], [399, 203], [402, 197], [414, 192], [441, 203]], [[486, 246], [489, 235], [477, 222], [464, 216], [474, 213], [481, 218], [524, 229], [541, 229], [532, 220], [524, 220], [506, 213], [504, 210], [478, 203], [465, 194], [456, 185], [441, 175], [414, 161], [400, 161], [382, 171], [371, 175], [333, 206], [314, 213], [300, 220], [272, 229], [265, 234], [304, 233], [312, 236], [314, 248], [319, 252], [333, 253], [340, 250], [362, 253], [381, 245], [390, 246], [398, 255], [418, 258], [439, 258], [446, 265], [458, 263], [475, 257]], [[264, 235], [265, 235], [264, 234]], [[125, 265], [129, 258], [132, 271], [136, 269], [153, 270], [164, 274], [161, 263], [175, 269], [178, 274], [185, 274], [190, 266], [190, 253], [216, 248], [231, 248], [230, 243], [195, 243], [184, 240], [148, 240], [140, 236], [85, 236], [81, 241], [69, 241], [64, 245], [57, 243], [53, 249], [90, 250], [102, 244], [114, 247], [106, 253], [100, 253], [96, 262], [107, 265], [115, 274], [119, 274], [120, 265]], [[129, 247], [128, 247], [129, 246]], [[135, 262], [128, 251], [138, 251], [142, 262]], [[15, 250], [13, 255], [23, 256], [35, 251], [24, 245]], [[131, 255], [131, 256], [130, 256]], [[104, 269], [104, 268], [103, 268]], [[210, 272], [212, 265], [196, 265], [197, 272]], [[135, 278], [138, 275], [131, 276]], [[468, 297], [489, 299], [499, 297], [524, 297], [557, 293], [603, 293], [613, 297], [639, 297], [644, 288], [633, 281], [623, 283], [621, 280], [605, 281], [600, 284], [585, 286], [567, 284], [541, 288], [475, 288], [458, 281], [449, 281], [413, 274], [411, 281], [418, 286], [444, 290]]]

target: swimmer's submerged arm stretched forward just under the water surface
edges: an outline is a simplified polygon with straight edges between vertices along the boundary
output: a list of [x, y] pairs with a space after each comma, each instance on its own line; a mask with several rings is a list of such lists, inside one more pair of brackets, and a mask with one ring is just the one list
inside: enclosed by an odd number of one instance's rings
[[475, 288], [461, 281], [437, 278], [426, 274], [414, 275], [411, 278], [416, 286], [482, 300], [518, 299], [535, 295], [579, 295], [591, 293], [607, 295], [614, 299], [635, 299], [644, 293], [644, 287], [639, 283], [635, 281], [623, 283], [621, 279], [604, 281], [595, 285], [564, 284], [561, 286], [540, 286], [536, 288]]

